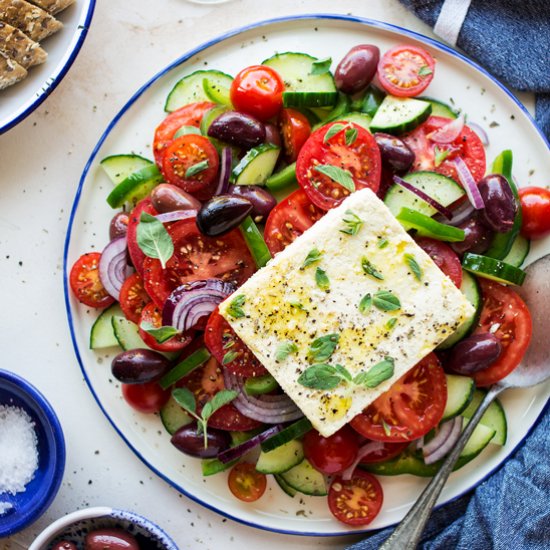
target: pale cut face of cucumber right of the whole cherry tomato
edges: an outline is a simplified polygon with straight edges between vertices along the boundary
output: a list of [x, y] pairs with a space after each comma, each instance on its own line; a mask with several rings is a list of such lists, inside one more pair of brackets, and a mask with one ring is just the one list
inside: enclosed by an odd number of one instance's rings
[[279, 73], [287, 92], [336, 93], [334, 78], [330, 72], [311, 74], [315, 61], [318, 61], [316, 57], [305, 53], [285, 52], [262, 61], [262, 65], [267, 65]]

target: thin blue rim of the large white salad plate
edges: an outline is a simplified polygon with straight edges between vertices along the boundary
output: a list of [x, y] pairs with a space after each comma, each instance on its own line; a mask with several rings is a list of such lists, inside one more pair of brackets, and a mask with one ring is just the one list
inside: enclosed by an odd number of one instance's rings
[[[251, 24], [248, 24], [248, 25], [244, 25], [242, 27], [238, 27], [238, 28], [233, 29], [231, 31], [228, 31], [224, 34], [221, 34], [221, 35], [219, 35], [219, 36], [217, 36], [217, 37], [215, 37], [211, 40], [203, 42], [199, 46], [189, 50], [187, 53], [185, 53], [182, 56], [178, 57], [172, 63], [167, 65], [164, 69], [162, 69], [157, 74], [155, 74], [151, 79], [149, 79], [143, 86], [141, 86], [130, 97], [130, 99], [120, 109], [120, 111], [115, 115], [113, 120], [109, 123], [106, 130], [103, 132], [103, 134], [99, 138], [96, 146], [92, 150], [92, 153], [90, 154], [90, 157], [89, 157], [89, 159], [88, 159], [88, 161], [87, 161], [87, 163], [84, 167], [82, 176], [81, 176], [79, 184], [78, 184], [78, 188], [77, 188], [76, 193], [75, 193], [73, 206], [71, 208], [71, 212], [70, 212], [70, 216], [69, 216], [69, 224], [68, 224], [68, 227], [67, 227], [67, 235], [66, 235], [66, 238], [65, 238], [65, 245], [64, 245], [64, 249], [63, 249], [63, 290], [64, 290], [64, 297], [65, 297], [65, 309], [66, 309], [66, 313], [67, 313], [67, 320], [68, 320], [68, 323], [69, 323], [69, 331], [70, 331], [70, 335], [71, 335], [71, 341], [72, 341], [72, 344], [73, 344], [73, 348], [74, 348], [74, 351], [75, 351], [76, 358], [77, 358], [78, 363], [80, 365], [80, 369], [82, 370], [84, 379], [86, 380], [86, 383], [87, 383], [90, 391], [92, 392], [92, 395], [94, 396], [94, 399], [96, 400], [99, 408], [101, 409], [103, 414], [106, 416], [107, 420], [111, 423], [111, 425], [113, 426], [115, 431], [122, 438], [122, 440], [132, 450], [132, 452], [150, 470], [155, 472], [155, 474], [157, 474], [161, 479], [163, 479], [171, 487], [177, 489], [178, 491], [180, 491], [182, 494], [184, 494], [185, 496], [187, 496], [188, 498], [190, 498], [194, 502], [200, 504], [201, 506], [204, 506], [205, 508], [207, 508], [207, 509], [209, 509], [213, 512], [216, 512], [216, 513], [222, 515], [223, 517], [227, 517], [227, 518], [229, 518], [233, 521], [236, 521], [237, 523], [241, 523], [241, 524], [246, 525], [248, 527], [253, 527], [253, 528], [256, 528], [256, 529], [260, 529], [260, 530], [264, 530], [264, 531], [268, 531], [268, 532], [272, 532], [272, 533], [278, 533], [278, 534], [283, 534], [283, 535], [308, 536], [308, 537], [334, 537], [334, 536], [351, 536], [351, 535], [361, 535], [361, 534], [374, 534], [374, 533], [376, 533], [378, 531], [381, 531], [383, 529], [387, 529], [388, 527], [391, 527], [392, 525], [396, 525], [396, 523], [385, 526], [385, 527], [382, 527], [382, 528], [378, 528], [378, 529], [358, 529], [358, 530], [353, 530], [353, 531], [330, 531], [330, 532], [320, 532], [320, 533], [294, 531], [294, 530], [291, 530], [291, 529], [278, 529], [278, 528], [274, 528], [274, 527], [267, 527], [267, 526], [264, 526], [264, 525], [261, 525], [261, 524], [258, 524], [258, 523], [254, 523], [254, 522], [251, 522], [251, 521], [239, 518], [239, 517], [235, 517], [235, 516], [231, 515], [228, 512], [219, 510], [214, 505], [211, 505], [207, 502], [204, 502], [199, 497], [196, 497], [195, 495], [190, 494], [189, 492], [187, 492], [185, 490], [184, 487], [178, 485], [177, 483], [175, 483], [174, 481], [169, 479], [166, 475], [164, 475], [162, 472], [160, 472], [153, 464], [151, 464], [144, 456], [142, 456], [141, 453], [136, 448], [134, 448], [134, 446], [130, 443], [130, 441], [126, 438], [126, 436], [118, 428], [118, 426], [115, 424], [114, 420], [110, 417], [109, 413], [103, 407], [99, 397], [97, 396], [97, 394], [96, 394], [96, 392], [95, 392], [95, 390], [94, 390], [94, 388], [91, 384], [91, 381], [88, 378], [88, 375], [87, 375], [86, 370], [84, 368], [84, 364], [82, 362], [82, 357], [80, 356], [78, 344], [76, 342], [76, 334], [75, 334], [75, 330], [74, 330], [73, 316], [72, 316], [71, 306], [70, 306], [67, 261], [68, 261], [68, 253], [69, 253], [69, 246], [70, 246], [70, 241], [71, 241], [74, 218], [75, 218], [76, 210], [77, 210], [79, 202], [80, 202], [80, 196], [82, 194], [82, 188], [84, 186], [84, 182], [86, 180], [88, 172], [90, 171], [92, 163], [94, 162], [95, 157], [97, 156], [97, 153], [99, 152], [99, 149], [101, 148], [104, 141], [107, 139], [107, 137], [111, 133], [112, 129], [116, 126], [118, 121], [122, 118], [122, 116], [124, 116], [126, 111], [128, 111], [128, 109], [137, 101], [137, 99], [148, 88], [150, 88], [157, 80], [162, 78], [165, 74], [170, 72], [172, 69], [174, 69], [178, 65], [181, 65], [182, 63], [184, 63], [188, 59], [192, 58], [193, 56], [201, 53], [203, 50], [205, 50], [205, 49], [207, 49], [211, 46], [214, 46], [214, 45], [218, 44], [219, 42], [222, 42], [224, 40], [227, 40], [229, 38], [232, 38], [234, 36], [237, 36], [239, 34], [242, 34], [244, 32], [250, 31], [250, 30], [258, 29], [258, 28], [261, 28], [261, 27], [266, 27], [266, 26], [269, 26], [269, 25], [275, 25], [275, 24], [278, 24], [278, 23], [285, 23], [285, 22], [299, 21], [299, 20], [335, 20], [335, 21], [360, 23], [360, 24], [363, 24], [363, 25], [366, 25], [366, 26], [371, 26], [371, 27], [377, 28], [377, 29], [387, 30], [387, 31], [392, 32], [392, 33], [398, 33], [398, 34], [401, 34], [401, 35], [404, 35], [404, 36], [408, 36], [408, 37], [411, 37], [415, 40], [425, 42], [425, 43], [429, 44], [430, 46], [432, 46], [434, 48], [443, 50], [444, 52], [452, 55], [453, 57], [456, 57], [456, 58], [460, 59], [461, 61], [465, 62], [466, 64], [470, 65], [471, 67], [477, 69], [479, 72], [481, 72], [483, 75], [485, 75], [488, 79], [490, 79], [494, 84], [496, 84], [516, 104], [516, 106], [525, 114], [527, 119], [531, 122], [531, 124], [533, 125], [535, 130], [538, 132], [538, 134], [541, 137], [542, 141], [546, 144], [546, 147], [550, 150], [550, 143], [549, 143], [548, 139], [546, 138], [546, 136], [544, 135], [542, 130], [538, 127], [538, 125], [536, 124], [535, 120], [533, 119], [533, 117], [531, 116], [529, 111], [516, 98], [516, 96], [510, 90], [508, 90], [508, 88], [506, 86], [504, 86], [504, 84], [502, 84], [493, 75], [491, 75], [486, 69], [484, 69], [481, 65], [479, 65], [478, 63], [476, 63], [472, 59], [469, 59], [468, 57], [464, 56], [460, 52], [454, 50], [453, 48], [451, 48], [451, 47], [449, 47], [449, 46], [447, 46], [447, 45], [445, 45], [445, 44], [443, 44], [443, 43], [441, 43], [441, 42], [439, 42], [439, 41], [437, 41], [433, 38], [425, 36], [421, 33], [418, 33], [416, 31], [412, 31], [410, 29], [406, 29], [406, 28], [401, 27], [399, 25], [394, 25], [392, 23], [386, 23], [386, 22], [383, 22], [383, 21], [378, 21], [376, 19], [368, 19], [368, 18], [359, 17], [359, 16], [333, 14], [333, 13], [310, 13], [310, 14], [276, 17], [276, 18], [270, 18], [270, 19], [262, 20], [262, 21], [259, 21], [259, 22], [256, 22], [256, 23], [251, 23]], [[519, 449], [519, 447], [525, 442], [525, 440], [531, 434], [531, 432], [533, 431], [535, 426], [538, 424], [538, 422], [540, 421], [540, 419], [544, 415], [544, 413], [550, 408], [549, 405], [550, 405], [550, 398], [547, 400], [545, 406], [541, 410], [541, 412], [538, 415], [536, 421], [533, 423], [531, 428], [528, 430], [525, 437], [513, 449], [510, 449], [510, 452], [502, 459], [500, 464], [495, 466], [495, 468], [493, 468], [489, 473], [487, 473], [486, 476], [484, 476], [482, 479], [480, 479], [473, 487], [465, 489], [464, 491], [462, 491], [460, 494], [456, 495], [452, 499], [450, 499], [450, 500], [448, 500], [448, 501], [446, 501], [442, 504], [439, 504], [437, 506], [437, 508], [439, 508], [440, 506], [449, 504], [449, 503], [457, 500], [458, 498], [464, 496], [466, 493], [468, 493], [469, 491], [475, 489], [475, 487], [479, 486], [481, 483], [483, 483], [485, 480], [487, 480], [495, 472], [499, 471], [503, 467], [503, 465], [506, 463], [507, 459], [512, 454], [514, 454], [517, 451], [517, 449]]]

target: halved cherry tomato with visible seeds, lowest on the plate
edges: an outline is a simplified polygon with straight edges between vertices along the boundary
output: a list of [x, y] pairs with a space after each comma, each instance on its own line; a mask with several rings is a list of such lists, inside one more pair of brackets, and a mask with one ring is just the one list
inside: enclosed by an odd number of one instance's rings
[[380, 512], [383, 500], [379, 481], [359, 469], [353, 472], [349, 481], [334, 478], [328, 491], [332, 515], [347, 525], [368, 525]]

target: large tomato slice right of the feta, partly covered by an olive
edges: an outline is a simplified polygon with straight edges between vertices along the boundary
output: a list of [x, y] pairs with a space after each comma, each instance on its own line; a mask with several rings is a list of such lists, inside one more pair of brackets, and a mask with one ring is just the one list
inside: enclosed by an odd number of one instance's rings
[[508, 286], [479, 278], [483, 309], [476, 333], [492, 332], [502, 345], [499, 358], [472, 375], [478, 386], [490, 386], [510, 374], [521, 362], [533, 325], [525, 302]]

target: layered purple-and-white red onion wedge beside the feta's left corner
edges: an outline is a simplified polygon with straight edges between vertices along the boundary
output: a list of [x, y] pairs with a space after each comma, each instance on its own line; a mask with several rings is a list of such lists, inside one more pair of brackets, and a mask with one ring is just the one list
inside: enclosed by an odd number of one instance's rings
[[162, 324], [181, 332], [204, 328], [204, 323], [219, 303], [235, 291], [232, 284], [220, 279], [193, 281], [178, 286], [162, 308]]

